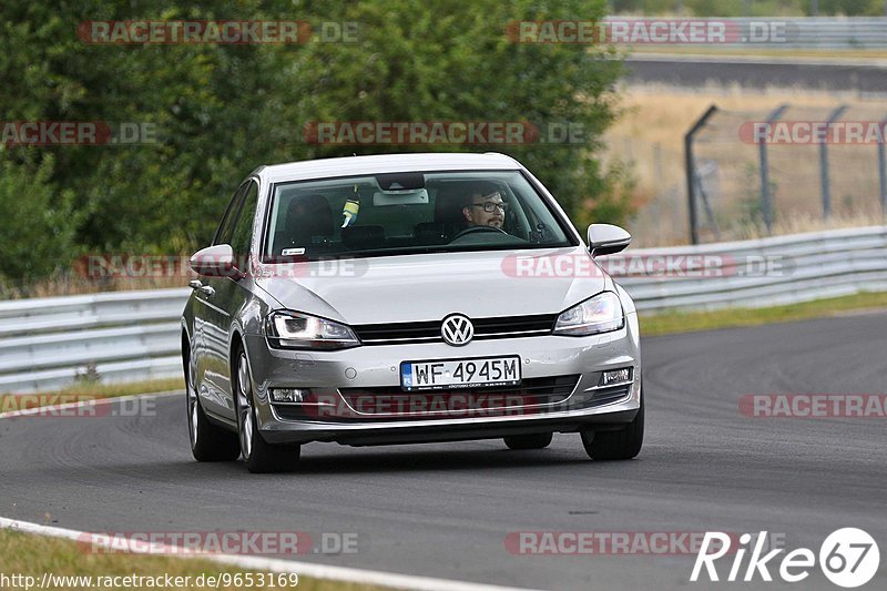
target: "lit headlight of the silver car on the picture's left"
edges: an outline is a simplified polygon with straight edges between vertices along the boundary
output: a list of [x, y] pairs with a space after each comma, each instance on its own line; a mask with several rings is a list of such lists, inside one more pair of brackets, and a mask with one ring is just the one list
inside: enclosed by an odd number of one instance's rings
[[348, 326], [298, 312], [273, 312], [267, 320], [268, 343], [285, 349], [345, 349], [360, 346]]

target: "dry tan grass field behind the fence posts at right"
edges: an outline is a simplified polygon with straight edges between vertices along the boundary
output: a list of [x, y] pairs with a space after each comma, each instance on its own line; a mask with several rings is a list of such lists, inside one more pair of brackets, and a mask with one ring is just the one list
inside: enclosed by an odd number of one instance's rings
[[[743, 91], [711, 88], [695, 91], [662, 85], [638, 85], [624, 90], [620, 120], [605, 135], [605, 159], [633, 163], [641, 208], [630, 230], [638, 246], [687, 242], [684, 134], [708, 109], [721, 110], [701, 134], [695, 152], [699, 162], [718, 166], [713, 191], [715, 215], [727, 231], [726, 240], [756, 237], [759, 225], [744, 213], [759, 198], [757, 146], [740, 140], [745, 121], [761, 121], [777, 105], [789, 103], [784, 119], [825, 120], [838, 104], [848, 105], [844, 120], [880, 120], [887, 109], [883, 100], [836, 96], [807, 91]], [[822, 221], [818, 146], [771, 146], [771, 181], [776, 220], [774, 234], [883, 223], [877, 190], [874, 145], [829, 147], [832, 218]], [[714, 236], [710, 236], [714, 238]]]

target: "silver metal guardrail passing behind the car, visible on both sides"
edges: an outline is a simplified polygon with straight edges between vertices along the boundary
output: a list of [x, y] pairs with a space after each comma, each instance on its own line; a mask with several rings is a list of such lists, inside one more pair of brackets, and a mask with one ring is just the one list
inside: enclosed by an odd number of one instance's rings
[[[887, 226], [634, 249], [605, 265], [642, 312], [792, 304], [887, 291]], [[0, 302], [0, 391], [57, 388], [88, 370], [104, 381], [180, 376], [188, 293]]]

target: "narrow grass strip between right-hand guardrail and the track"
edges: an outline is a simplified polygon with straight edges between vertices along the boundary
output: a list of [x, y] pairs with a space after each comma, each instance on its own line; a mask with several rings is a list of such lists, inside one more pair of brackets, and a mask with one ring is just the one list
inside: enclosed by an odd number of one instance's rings
[[659, 336], [715, 328], [759, 326], [835, 316], [843, 312], [887, 309], [887, 292], [816, 299], [766, 308], [725, 308], [713, 312], [641, 314], [641, 334]]

